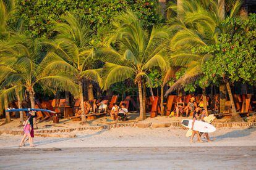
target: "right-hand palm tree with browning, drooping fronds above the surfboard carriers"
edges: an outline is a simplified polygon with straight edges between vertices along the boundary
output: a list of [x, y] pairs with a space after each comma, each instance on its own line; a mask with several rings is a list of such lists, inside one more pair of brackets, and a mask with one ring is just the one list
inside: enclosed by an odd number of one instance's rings
[[[233, 8], [229, 10], [229, 17], [237, 17], [240, 7], [241, 2], [236, 1]], [[193, 53], [192, 49], [216, 44], [219, 34], [229, 29], [221, 25], [223, 20], [221, 10], [223, 9], [216, 1], [183, 1], [182, 9], [182, 17], [170, 21], [171, 28], [174, 30], [170, 48], [174, 62], [179, 66], [187, 67], [187, 71], [168, 92], [184, 87], [195, 79], [201, 78], [202, 64], [211, 55]], [[232, 94], [229, 94], [229, 96], [232, 97]], [[207, 108], [205, 87], [203, 88], [203, 99], [204, 107]]]

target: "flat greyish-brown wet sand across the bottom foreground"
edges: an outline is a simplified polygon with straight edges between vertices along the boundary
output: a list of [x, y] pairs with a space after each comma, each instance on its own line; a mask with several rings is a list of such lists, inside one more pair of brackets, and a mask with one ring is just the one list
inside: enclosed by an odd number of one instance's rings
[[0, 169], [254, 169], [256, 147], [20, 148]]

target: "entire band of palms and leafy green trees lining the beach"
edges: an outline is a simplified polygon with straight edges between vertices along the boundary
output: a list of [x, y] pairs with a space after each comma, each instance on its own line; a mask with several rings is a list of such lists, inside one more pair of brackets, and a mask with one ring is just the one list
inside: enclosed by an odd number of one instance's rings
[[163, 113], [169, 92], [201, 87], [206, 106], [210, 84], [225, 83], [233, 100], [230, 84], [256, 82], [256, 15], [241, 17], [240, 1], [173, 1], [165, 20], [153, 0], [0, 2], [3, 108], [27, 100], [26, 94], [34, 107], [38, 88], [69, 91], [83, 106], [83, 88], [87, 84], [91, 99], [94, 83], [122, 95], [136, 91], [144, 119], [147, 89], [161, 88]]

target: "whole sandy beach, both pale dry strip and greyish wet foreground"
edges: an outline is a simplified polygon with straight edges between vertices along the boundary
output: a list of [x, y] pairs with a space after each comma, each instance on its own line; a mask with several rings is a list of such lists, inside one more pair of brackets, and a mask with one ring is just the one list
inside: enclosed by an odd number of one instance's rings
[[[102, 125], [105, 119], [92, 121], [90, 126]], [[171, 121], [177, 119], [158, 117], [143, 123]], [[60, 124], [43, 122], [38, 126], [54, 129], [81, 125], [62, 119]], [[0, 127], [7, 128], [20, 129], [19, 121]], [[203, 143], [197, 143], [194, 139], [192, 144], [185, 137], [186, 132], [179, 127], [75, 130], [59, 134], [76, 137], [36, 136], [36, 146], [32, 148], [28, 143], [18, 147], [22, 136], [3, 133], [0, 169], [254, 169], [256, 166], [256, 128], [217, 128], [210, 134], [213, 142], [203, 139]]]

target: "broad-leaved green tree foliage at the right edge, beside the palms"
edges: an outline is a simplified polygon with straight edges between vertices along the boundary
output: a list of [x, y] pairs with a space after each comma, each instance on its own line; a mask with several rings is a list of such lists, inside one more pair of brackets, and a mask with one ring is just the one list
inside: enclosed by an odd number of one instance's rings
[[233, 29], [221, 34], [216, 45], [199, 49], [214, 55], [203, 65], [203, 73], [213, 83], [229, 79], [231, 83], [242, 81], [255, 84], [256, 15], [250, 15], [247, 20], [227, 18], [223, 25]]

